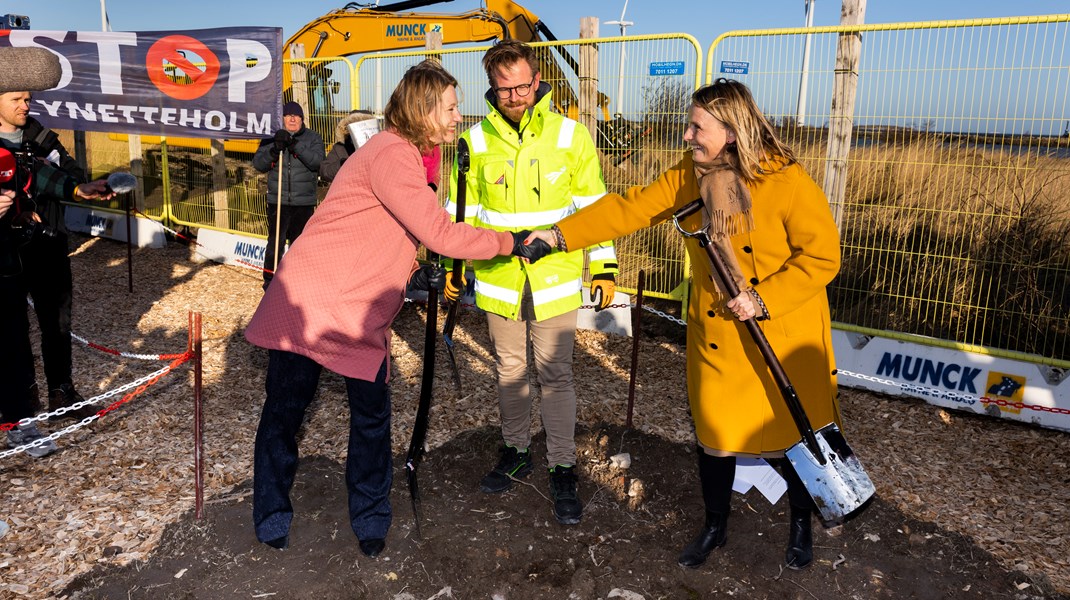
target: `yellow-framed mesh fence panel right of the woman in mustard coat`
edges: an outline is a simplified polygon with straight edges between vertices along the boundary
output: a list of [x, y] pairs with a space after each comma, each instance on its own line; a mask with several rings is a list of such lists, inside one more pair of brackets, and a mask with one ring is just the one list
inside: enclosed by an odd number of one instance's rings
[[[1070, 15], [730, 32], [747, 83], [822, 184], [841, 34], [862, 49], [834, 318], [1070, 365]], [[811, 39], [806, 96], [802, 55]]]

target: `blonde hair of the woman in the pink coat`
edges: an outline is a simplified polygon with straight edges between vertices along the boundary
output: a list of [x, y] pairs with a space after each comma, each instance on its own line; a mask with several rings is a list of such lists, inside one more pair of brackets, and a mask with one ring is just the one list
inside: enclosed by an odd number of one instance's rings
[[437, 61], [425, 60], [410, 66], [383, 110], [385, 125], [416, 144], [421, 152], [430, 151], [434, 130], [428, 116], [439, 105], [442, 92], [456, 87], [457, 79]]

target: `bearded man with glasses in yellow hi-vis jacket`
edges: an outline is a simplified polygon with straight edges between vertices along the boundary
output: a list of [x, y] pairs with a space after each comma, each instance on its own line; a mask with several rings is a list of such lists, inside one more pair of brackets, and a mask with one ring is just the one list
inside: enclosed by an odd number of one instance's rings
[[[465, 220], [505, 231], [547, 229], [606, 194], [598, 155], [582, 124], [551, 111], [549, 83], [539, 79], [535, 51], [503, 41], [483, 59], [490, 80], [490, 113], [461, 137], [471, 151]], [[456, 198], [457, 168], [450, 178]], [[454, 212], [453, 202], [447, 210]], [[598, 307], [613, 299], [616, 253], [611, 243], [587, 248], [591, 295]], [[583, 250], [554, 252], [535, 264], [516, 258], [473, 261], [476, 305], [487, 312], [498, 370], [502, 448], [480, 489], [503, 492], [533, 470], [528, 339], [531, 336], [553, 513], [580, 522], [576, 477], [576, 389], [572, 347], [582, 299]], [[600, 297], [599, 297], [600, 294]]]

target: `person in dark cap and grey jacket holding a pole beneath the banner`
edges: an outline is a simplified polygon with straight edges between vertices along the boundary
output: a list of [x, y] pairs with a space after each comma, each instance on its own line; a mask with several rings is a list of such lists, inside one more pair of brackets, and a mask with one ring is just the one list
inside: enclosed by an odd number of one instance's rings
[[281, 248], [305, 230], [316, 209], [316, 184], [323, 163], [323, 138], [305, 127], [305, 111], [295, 102], [282, 105], [282, 128], [260, 142], [253, 167], [268, 173], [268, 248], [264, 290], [275, 276]]

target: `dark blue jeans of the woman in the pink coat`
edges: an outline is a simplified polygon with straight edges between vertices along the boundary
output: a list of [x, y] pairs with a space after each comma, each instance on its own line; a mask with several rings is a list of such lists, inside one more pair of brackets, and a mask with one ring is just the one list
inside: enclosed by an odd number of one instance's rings
[[[321, 367], [315, 360], [272, 350], [253, 463], [253, 522], [257, 539], [289, 535], [293, 520], [290, 488], [297, 472], [297, 430], [316, 395]], [[376, 381], [346, 378], [349, 396], [349, 456], [346, 488], [349, 519], [358, 539], [385, 538], [391, 527], [391, 397], [386, 361]]]

